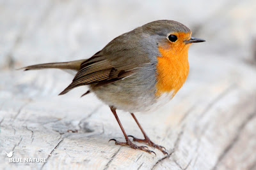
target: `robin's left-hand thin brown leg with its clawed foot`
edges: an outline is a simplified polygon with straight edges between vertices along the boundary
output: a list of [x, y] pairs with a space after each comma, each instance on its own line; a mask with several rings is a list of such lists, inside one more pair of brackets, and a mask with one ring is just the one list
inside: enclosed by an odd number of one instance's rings
[[137, 146], [135, 145], [134, 143], [132, 143], [132, 141], [128, 138], [126, 132], [124, 131], [124, 127], [122, 126], [117, 114], [116, 114], [116, 108], [114, 108], [113, 106], [110, 106], [110, 110], [112, 111], [113, 115], [115, 116], [116, 118], [116, 121], [118, 122], [123, 134], [124, 134], [124, 137], [125, 137], [125, 140], [126, 142], [120, 142], [120, 141], [116, 141], [116, 139], [110, 139], [109, 141], [115, 141], [115, 144], [116, 145], [122, 145], [122, 146], [130, 146], [130, 148], [134, 149], [134, 150], [143, 150], [145, 152], [148, 152], [148, 153], [154, 153], [156, 155], [155, 152], [151, 151], [151, 150], [148, 150], [148, 147], [147, 146]]

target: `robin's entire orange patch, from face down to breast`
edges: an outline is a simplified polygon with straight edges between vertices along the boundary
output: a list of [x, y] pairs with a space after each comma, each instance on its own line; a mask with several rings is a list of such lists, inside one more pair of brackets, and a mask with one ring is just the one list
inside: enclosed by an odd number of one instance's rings
[[157, 57], [156, 66], [157, 97], [164, 92], [172, 91], [173, 97], [182, 87], [189, 73], [188, 48], [190, 44], [185, 44], [184, 40], [190, 39], [191, 32], [172, 32], [172, 34], [177, 36], [177, 41], [170, 41], [167, 45], [158, 47], [161, 56]]

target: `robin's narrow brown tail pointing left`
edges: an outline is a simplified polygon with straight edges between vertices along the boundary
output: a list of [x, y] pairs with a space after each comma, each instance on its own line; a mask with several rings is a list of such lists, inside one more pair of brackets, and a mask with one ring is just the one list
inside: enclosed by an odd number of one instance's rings
[[87, 59], [84, 60], [74, 60], [70, 62], [52, 62], [52, 63], [45, 63], [45, 64], [36, 64], [32, 66], [22, 67], [20, 69], [24, 69], [24, 71], [28, 71], [30, 69], [72, 69], [79, 71], [81, 69], [81, 64]]

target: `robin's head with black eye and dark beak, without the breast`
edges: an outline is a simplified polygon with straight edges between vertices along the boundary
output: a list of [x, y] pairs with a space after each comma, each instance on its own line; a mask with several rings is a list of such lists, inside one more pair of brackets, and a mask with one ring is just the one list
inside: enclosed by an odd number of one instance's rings
[[205, 41], [192, 37], [188, 27], [173, 20], [157, 20], [143, 25], [140, 29], [147, 41], [144, 44], [157, 46], [160, 52], [173, 54], [170, 57], [179, 57], [179, 54], [182, 55], [181, 51], [188, 51], [191, 43]]

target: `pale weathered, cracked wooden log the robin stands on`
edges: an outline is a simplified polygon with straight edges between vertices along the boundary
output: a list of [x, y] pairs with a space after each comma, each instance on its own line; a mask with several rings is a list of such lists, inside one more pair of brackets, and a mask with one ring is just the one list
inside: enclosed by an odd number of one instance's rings
[[[137, 115], [148, 136], [166, 147], [167, 156], [108, 143], [111, 138], [124, 140], [122, 132], [108, 106], [93, 94], [79, 98], [84, 88], [67, 96], [52, 95], [62, 89], [41, 94], [47, 85], [41, 89], [44, 81], [35, 81], [65, 74], [61, 71], [1, 73], [2, 80], [12, 78], [1, 82], [0, 149], [13, 151], [13, 158], [46, 158], [45, 164], [29, 166], [38, 169], [253, 169], [255, 68], [214, 57], [195, 62], [188, 82], [170, 103]], [[211, 64], [224, 69], [211, 71]], [[201, 69], [208, 76], [200, 76]], [[118, 115], [128, 134], [142, 138], [128, 113]], [[2, 158], [1, 167], [17, 167], [6, 155]]]

